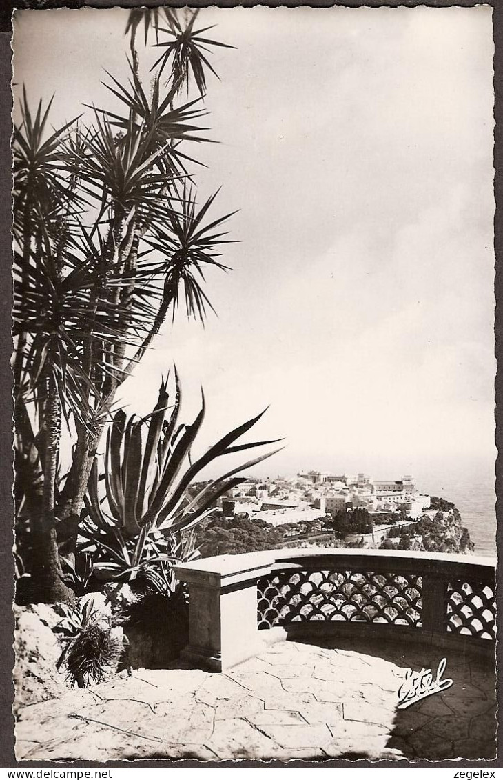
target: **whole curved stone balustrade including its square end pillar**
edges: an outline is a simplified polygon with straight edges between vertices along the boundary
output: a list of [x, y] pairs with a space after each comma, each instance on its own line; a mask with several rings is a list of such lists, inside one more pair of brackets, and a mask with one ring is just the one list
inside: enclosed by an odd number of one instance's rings
[[495, 638], [491, 558], [285, 548], [204, 558], [175, 572], [189, 583], [184, 654], [218, 671], [259, 652], [277, 636], [267, 629], [280, 627], [341, 631], [370, 623], [444, 640]]

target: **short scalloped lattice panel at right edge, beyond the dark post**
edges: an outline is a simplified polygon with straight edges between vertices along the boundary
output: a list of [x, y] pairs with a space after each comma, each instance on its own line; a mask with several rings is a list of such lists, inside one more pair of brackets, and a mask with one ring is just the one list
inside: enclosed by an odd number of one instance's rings
[[496, 637], [494, 586], [452, 580], [447, 586], [447, 630], [480, 639]]

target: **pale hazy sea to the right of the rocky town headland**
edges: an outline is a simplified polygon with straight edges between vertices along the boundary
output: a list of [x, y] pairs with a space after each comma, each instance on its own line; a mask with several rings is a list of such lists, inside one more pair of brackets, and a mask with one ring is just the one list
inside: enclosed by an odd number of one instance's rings
[[496, 488], [494, 463], [416, 466], [416, 487], [427, 495], [452, 501], [475, 543], [474, 555], [496, 556]]

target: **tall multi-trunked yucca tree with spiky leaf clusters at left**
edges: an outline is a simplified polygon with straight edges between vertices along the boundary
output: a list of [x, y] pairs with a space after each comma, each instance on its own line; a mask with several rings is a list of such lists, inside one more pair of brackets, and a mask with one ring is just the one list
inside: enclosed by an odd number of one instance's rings
[[[200, 126], [207, 51], [221, 45], [200, 38], [196, 18], [133, 10], [129, 76], [107, 84], [115, 112], [84, 107], [50, 130], [51, 103], [32, 112], [23, 92], [13, 137], [15, 493], [40, 601], [69, 597], [60, 555], [74, 555], [118, 388], [180, 300], [204, 318], [204, 267], [225, 268], [218, 250], [226, 217], [208, 217], [214, 197], [197, 206], [189, 169], [191, 147], [208, 140]], [[158, 43], [168, 36], [148, 95], [138, 75], [142, 21], [146, 41], [149, 30]], [[192, 79], [198, 97], [182, 98]], [[63, 424], [73, 437], [64, 477]], [[23, 557], [21, 534], [18, 541]]]

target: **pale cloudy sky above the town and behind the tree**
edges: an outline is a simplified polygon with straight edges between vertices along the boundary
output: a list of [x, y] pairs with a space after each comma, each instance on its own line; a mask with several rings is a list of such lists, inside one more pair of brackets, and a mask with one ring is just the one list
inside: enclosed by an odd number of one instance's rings
[[[18, 12], [14, 82], [53, 121], [125, 73], [123, 9]], [[218, 40], [201, 197], [236, 243], [122, 387], [147, 413], [175, 361], [200, 452], [265, 406], [257, 474], [381, 478], [494, 463], [491, 9], [204, 9]], [[143, 72], [149, 56], [143, 57]], [[150, 60], [151, 62], [151, 60]], [[148, 80], [147, 80], [148, 83]], [[17, 87], [15, 87], [16, 89]], [[454, 466], [453, 466], [454, 467]]]

